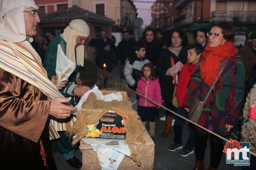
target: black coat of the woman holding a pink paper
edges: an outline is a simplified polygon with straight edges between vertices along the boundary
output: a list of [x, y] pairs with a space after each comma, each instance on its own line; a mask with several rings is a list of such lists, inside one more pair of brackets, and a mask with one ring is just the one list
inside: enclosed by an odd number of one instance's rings
[[187, 48], [183, 47], [180, 50], [179, 56], [177, 57], [175, 54], [173, 54], [171, 51], [167, 49], [163, 49], [160, 58], [158, 59], [156, 70], [157, 74], [160, 78], [160, 86], [161, 86], [161, 92], [163, 99], [172, 100], [173, 91], [174, 91], [174, 85], [172, 83], [173, 78], [171, 76], [166, 76], [166, 71], [172, 67], [171, 66], [171, 56], [174, 59], [174, 62], [182, 62], [183, 64], [187, 61]]

